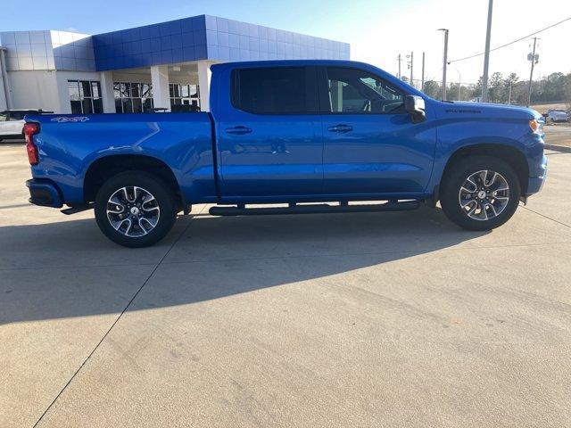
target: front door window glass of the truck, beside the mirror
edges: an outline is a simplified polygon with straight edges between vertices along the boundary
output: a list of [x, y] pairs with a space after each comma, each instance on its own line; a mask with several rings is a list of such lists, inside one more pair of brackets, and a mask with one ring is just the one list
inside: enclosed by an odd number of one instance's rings
[[333, 113], [401, 113], [404, 94], [365, 70], [327, 67], [328, 108]]

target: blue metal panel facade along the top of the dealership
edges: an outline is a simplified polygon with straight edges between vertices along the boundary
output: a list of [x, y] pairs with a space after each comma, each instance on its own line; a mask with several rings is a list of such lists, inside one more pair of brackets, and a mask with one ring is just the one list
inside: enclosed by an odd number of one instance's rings
[[200, 15], [93, 37], [96, 70], [198, 60], [348, 60], [346, 43]]

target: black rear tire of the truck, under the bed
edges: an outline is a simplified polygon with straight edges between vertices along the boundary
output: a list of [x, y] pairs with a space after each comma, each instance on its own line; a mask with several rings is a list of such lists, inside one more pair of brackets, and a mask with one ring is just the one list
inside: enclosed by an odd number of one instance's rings
[[[135, 187], [139, 189], [134, 191]], [[113, 199], [113, 201], [120, 202], [112, 204], [117, 206], [117, 214], [113, 212], [110, 214], [110, 218], [117, 220], [116, 224], [121, 223], [120, 228], [116, 229], [112, 226], [112, 219], [108, 218], [108, 202], [113, 195], [123, 194], [118, 193], [123, 188], [134, 191], [129, 193], [134, 201], [127, 198]], [[146, 198], [146, 202], [145, 199], [139, 201], [138, 207], [145, 207], [145, 204], [152, 205], [146, 205], [145, 210], [138, 208], [136, 215], [132, 216], [131, 208], [128, 208], [128, 205], [133, 205], [132, 208], [135, 208], [137, 193], [139, 200]], [[151, 199], [148, 194], [154, 199]], [[146, 247], [159, 242], [170, 232], [177, 215], [175, 205], [174, 193], [160, 178], [144, 171], [128, 171], [113, 176], [103, 183], [95, 196], [95, 220], [103, 235], [111, 239], [112, 242], [131, 248]], [[118, 218], [119, 214], [126, 218]], [[125, 216], [125, 214], [127, 215]], [[146, 220], [145, 216], [148, 216], [152, 221]], [[133, 219], [131, 220], [131, 218]], [[154, 221], [155, 218], [156, 222]], [[123, 222], [125, 222], [124, 225]], [[128, 233], [132, 235], [127, 235]]]

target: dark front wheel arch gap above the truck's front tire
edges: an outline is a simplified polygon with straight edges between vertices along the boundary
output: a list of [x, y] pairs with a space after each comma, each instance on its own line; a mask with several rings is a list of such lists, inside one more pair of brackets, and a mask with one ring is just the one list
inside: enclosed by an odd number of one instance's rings
[[521, 193], [525, 194], [529, 178], [529, 165], [525, 158], [524, 152], [508, 144], [486, 143], [470, 144], [459, 147], [455, 152], [451, 154], [450, 158], [448, 158], [448, 161], [446, 161], [443, 169], [443, 174], [438, 185], [439, 188], [443, 188], [443, 180], [446, 179], [446, 176], [450, 171], [452, 165], [454, 165], [460, 159], [476, 155], [492, 156], [508, 163], [508, 165], [513, 168], [517, 174], [519, 185], [521, 187]]

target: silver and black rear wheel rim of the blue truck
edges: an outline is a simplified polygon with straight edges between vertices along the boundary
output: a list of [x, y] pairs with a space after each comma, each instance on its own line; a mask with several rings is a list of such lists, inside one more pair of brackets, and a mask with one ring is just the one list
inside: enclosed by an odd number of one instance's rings
[[107, 201], [109, 223], [130, 238], [149, 234], [160, 216], [161, 209], [153, 194], [136, 185], [121, 187]]

